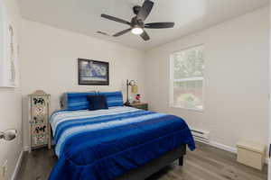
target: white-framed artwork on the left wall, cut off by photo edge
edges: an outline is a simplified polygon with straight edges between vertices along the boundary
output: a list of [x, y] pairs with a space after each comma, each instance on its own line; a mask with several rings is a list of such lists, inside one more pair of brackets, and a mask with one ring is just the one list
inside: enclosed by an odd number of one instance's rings
[[16, 31], [11, 17], [8, 15], [5, 4], [0, 2], [0, 87], [18, 86], [18, 44]]

